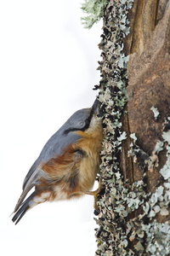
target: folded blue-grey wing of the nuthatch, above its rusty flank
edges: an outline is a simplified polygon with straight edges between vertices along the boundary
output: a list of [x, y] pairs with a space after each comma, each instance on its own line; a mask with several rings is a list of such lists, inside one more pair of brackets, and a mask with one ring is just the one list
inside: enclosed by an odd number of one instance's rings
[[20, 199], [14, 208], [16, 212], [22, 202], [24, 201], [27, 193], [36, 185], [41, 177], [47, 177], [47, 174], [41, 170], [42, 166], [48, 163], [49, 160], [55, 158], [57, 155], [63, 154], [65, 148], [69, 145], [76, 143], [81, 136], [77, 135], [76, 132], [70, 131], [67, 134], [59, 134], [59, 131], [54, 133], [52, 137], [48, 140], [45, 146], [42, 148], [42, 152], [31, 166], [30, 171], [27, 173], [24, 183], [23, 192], [20, 195]]

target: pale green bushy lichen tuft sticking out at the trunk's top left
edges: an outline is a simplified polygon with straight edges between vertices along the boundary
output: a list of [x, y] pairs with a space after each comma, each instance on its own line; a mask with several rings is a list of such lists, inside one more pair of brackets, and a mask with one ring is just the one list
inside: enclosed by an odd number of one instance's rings
[[107, 3], [106, 0], [85, 0], [82, 3], [82, 10], [87, 14], [81, 19], [85, 28], [91, 28], [95, 22], [104, 16]]

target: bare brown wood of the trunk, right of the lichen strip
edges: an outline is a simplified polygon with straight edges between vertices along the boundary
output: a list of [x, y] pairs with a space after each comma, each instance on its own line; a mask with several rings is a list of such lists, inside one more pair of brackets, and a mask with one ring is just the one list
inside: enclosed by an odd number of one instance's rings
[[[135, 1], [129, 15], [131, 33], [126, 42], [130, 60], [127, 65], [127, 115], [130, 133], [138, 137], [138, 145], [151, 155], [161, 139], [162, 124], [169, 114], [170, 102], [170, 8], [168, 1]], [[166, 4], [167, 3], [167, 4]], [[132, 21], [131, 21], [132, 20]], [[157, 119], [150, 108], [159, 110]], [[160, 166], [165, 163], [161, 155]], [[136, 170], [137, 169], [137, 170]], [[147, 188], [160, 179], [160, 168], [154, 169]], [[133, 165], [134, 180], [138, 180]], [[156, 175], [153, 178], [153, 175]], [[150, 187], [150, 188], [149, 188]]]

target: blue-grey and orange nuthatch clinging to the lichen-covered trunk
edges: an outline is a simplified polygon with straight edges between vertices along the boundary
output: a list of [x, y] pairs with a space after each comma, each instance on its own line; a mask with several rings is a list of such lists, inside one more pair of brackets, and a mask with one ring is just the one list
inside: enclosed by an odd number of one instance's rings
[[[99, 170], [103, 139], [98, 113], [96, 99], [92, 108], [73, 113], [42, 148], [25, 177], [23, 192], [14, 208], [12, 220], [15, 224], [27, 210], [44, 201], [67, 200], [84, 194], [96, 198], [99, 189], [90, 189]], [[34, 192], [25, 200], [33, 187]]]

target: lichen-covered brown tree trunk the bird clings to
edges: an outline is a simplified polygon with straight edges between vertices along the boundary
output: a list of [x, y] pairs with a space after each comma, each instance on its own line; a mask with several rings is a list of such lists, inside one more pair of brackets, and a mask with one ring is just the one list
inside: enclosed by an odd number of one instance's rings
[[108, 1], [99, 48], [96, 255], [170, 255], [170, 1]]

